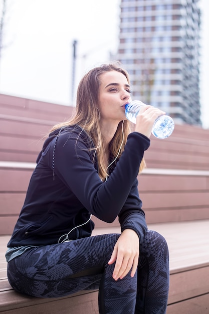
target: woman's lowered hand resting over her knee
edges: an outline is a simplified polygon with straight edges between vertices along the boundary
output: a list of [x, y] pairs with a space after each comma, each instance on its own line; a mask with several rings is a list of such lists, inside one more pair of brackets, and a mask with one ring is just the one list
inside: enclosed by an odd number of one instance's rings
[[113, 264], [115, 268], [112, 277], [117, 280], [122, 279], [131, 269], [131, 277], [134, 276], [139, 260], [139, 237], [132, 229], [125, 229], [114, 246], [108, 264]]

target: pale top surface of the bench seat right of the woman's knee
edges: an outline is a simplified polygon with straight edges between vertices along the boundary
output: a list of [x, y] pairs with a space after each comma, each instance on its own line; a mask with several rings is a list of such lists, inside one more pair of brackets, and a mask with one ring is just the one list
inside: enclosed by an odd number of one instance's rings
[[208, 226], [209, 219], [148, 224], [149, 229], [159, 232], [167, 241], [171, 273], [209, 264]]

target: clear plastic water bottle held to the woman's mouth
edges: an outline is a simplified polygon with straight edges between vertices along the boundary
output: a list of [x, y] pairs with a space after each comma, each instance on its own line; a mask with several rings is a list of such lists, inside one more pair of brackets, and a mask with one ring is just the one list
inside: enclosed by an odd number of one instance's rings
[[[140, 100], [134, 100], [125, 106], [125, 115], [128, 120], [136, 123], [136, 116], [140, 108], [145, 104]], [[166, 138], [170, 136], [174, 129], [174, 122], [168, 115], [160, 115], [154, 122], [152, 134], [157, 138]]]

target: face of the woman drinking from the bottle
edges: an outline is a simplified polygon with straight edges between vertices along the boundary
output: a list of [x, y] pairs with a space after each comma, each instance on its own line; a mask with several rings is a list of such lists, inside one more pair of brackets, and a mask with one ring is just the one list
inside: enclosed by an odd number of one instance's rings
[[109, 71], [101, 74], [99, 80], [100, 121], [125, 120], [125, 105], [131, 101], [127, 78], [120, 72]]

